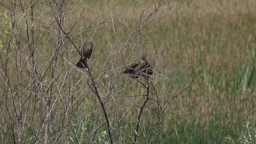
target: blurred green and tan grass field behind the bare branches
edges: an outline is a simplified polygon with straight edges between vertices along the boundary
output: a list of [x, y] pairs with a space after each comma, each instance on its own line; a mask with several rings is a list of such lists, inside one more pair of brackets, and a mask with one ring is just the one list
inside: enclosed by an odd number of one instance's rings
[[[110, 0], [97, 2], [93, 9], [78, 22], [77, 27], [70, 32], [69, 36], [74, 40], [77, 46], [81, 43], [81, 36], [79, 34], [77, 35], [77, 33], [80, 32], [83, 39], [92, 38], [97, 25], [90, 27], [88, 31], [86, 30], [104, 11], [105, 6], [109, 4], [109, 2]], [[134, 46], [134, 41], [130, 40], [125, 48], [121, 50], [124, 42], [127, 40], [127, 36], [130, 34], [127, 32], [126, 24], [130, 26], [131, 30], [136, 29], [139, 25], [139, 15], [149, 2], [151, 1], [146, 0], [144, 3], [135, 0], [114, 1], [110, 7], [108, 7], [109, 11], [105, 12], [106, 15], [100, 16], [100, 20], [106, 20], [111, 18], [110, 15], [113, 14], [110, 13], [110, 11], [116, 10], [114, 23], [106, 22], [106, 24], [103, 24], [102, 27], [97, 29], [92, 40], [95, 43], [95, 58], [88, 60], [91, 64], [92, 76], [95, 82], [98, 82], [97, 87], [102, 97], [108, 94], [108, 90], [110, 86], [112, 86], [110, 83], [114, 82], [116, 78], [114, 72], [121, 72], [122, 68], [120, 67], [124, 65], [125, 60]], [[67, 8], [72, 8], [74, 4], [76, 3], [70, 3]], [[87, 4], [87, 6], [90, 7], [93, 2], [84, 0], [83, 4]], [[132, 7], [132, 4], [134, 4], [134, 7]], [[169, 2], [169, 4], [172, 3]], [[187, 5], [188, 2], [183, 0], [172, 4], [170, 8], [175, 9], [186, 7]], [[241, 131], [241, 124], [248, 118], [245, 115], [244, 107], [246, 107], [246, 110], [250, 112], [252, 116], [255, 116], [256, 113], [256, 76], [254, 71], [256, 39], [252, 34], [252, 32], [256, 33], [256, 16], [254, 15], [256, 13], [256, 3], [254, 0], [205, 0], [199, 1], [195, 5], [195, 7], [190, 7], [179, 13], [165, 16], [158, 19], [156, 22], [148, 24], [144, 29], [145, 33], [142, 34], [142, 38], [138, 41], [136, 51], [129, 59], [129, 63], [131, 63], [132, 60], [146, 54], [147, 59], [152, 60], [152, 63], [156, 64], [160, 48], [162, 45], [166, 44], [169, 39], [172, 40], [161, 53], [163, 60], [157, 66], [161, 74], [156, 75], [159, 79], [152, 80], [153, 84], [158, 84], [156, 90], [158, 90], [163, 104], [166, 104], [166, 101], [171, 98], [170, 94], [164, 95], [168, 87], [170, 86], [171, 88], [171, 90], [167, 90], [168, 92], [172, 92], [173, 95], [178, 94], [189, 83], [186, 70], [188, 70], [190, 75], [192, 73], [189, 66], [179, 68], [177, 72], [174, 69], [180, 66], [184, 61], [185, 54], [188, 58], [190, 58], [191, 54], [194, 57], [195, 80], [192, 86], [186, 90], [182, 96], [175, 99], [175, 101], [170, 104], [170, 109], [166, 113], [165, 119], [162, 121], [164, 127], [160, 129], [163, 135], [159, 138], [159, 141], [154, 137], [151, 141], [152, 143], [156, 143], [157, 141], [163, 142], [163, 140], [165, 140], [163, 143], [225, 144], [226, 141], [224, 137], [229, 135], [231, 138], [236, 138], [237, 134]], [[38, 7], [35, 8], [40, 8], [39, 4], [37, 6]], [[151, 9], [154, 9], [154, 7], [150, 8], [150, 10]], [[37, 22], [36, 28], [49, 28], [50, 31], [54, 31], [55, 29], [50, 27], [52, 19], [48, 18], [52, 18], [52, 14], [48, 11], [43, 12], [43, 20], [42, 22]], [[80, 12], [81, 9], [77, 8], [66, 18], [67, 21], [68, 18], [70, 19], [69, 23], [66, 23], [67, 26], [65, 28], [69, 29], [70, 25], [74, 24], [74, 17], [78, 17]], [[157, 16], [166, 15], [168, 12], [168, 10], [162, 11], [152, 19]], [[0, 22], [2, 25], [4, 24], [5, 20], [3, 17], [0, 18]], [[96, 23], [97, 21], [93, 24]], [[57, 26], [57, 24], [54, 24], [54, 26]], [[167, 32], [157, 37], [160, 32], [167, 28], [169, 28]], [[3, 31], [4, 29], [0, 28], [0, 30]], [[35, 33], [36, 35], [42, 34], [38, 29]], [[50, 36], [52, 38], [48, 40]], [[27, 42], [25, 31], [22, 31], [21, 37], [24, 56], [28, 56], [26, 55], [29, 51], [26, 49]], [[138, 38], [138, 34], [134, 34], [134, 39], [136, 38]], [[148, 41], [152, 38], [155, 39]], [[56, 42], [56, 35], [54, 32], [47, 32], [46, 35], [37, 42], [38, 46], [35, 52], [35, 58], [37, 60], [36, 68], [42, 75], [45, 66], [50, 65], [50, 61], [48, 63], [46, 63], [46, 61], [50, 60], [50, 56], [52, 56], [52, 52], [55, 50], [54, 42]], [[115, 44], [115, 42], [117, 43]], [[70, 117], [70, 123], [74, 125], [71, 124], [70, 137], [74, 138], [75, 133], [77, 133], [77, 137], [74, 139], [78, 142], [81, 136], [90, 134], [89, 132], [93, 128], [94, 120], [100, 111], [100, 106], [96, 100], [95, 94], [92, 93], [88, 86], [88, 74], [79, 72], [73, 66], [79, 58], [78, 52], [76, 52], [71, 43], [69, 43], [68, 46], [70, 52], [69, 64], [71, 66], [70, 84], [72, 87], [75, 87], [72, 91], [74, 92], [72, 93], [72, 100], [74, 100], [72, 103], [72, 112], [74, 112], [74, 115]], [[120, 54], [113, 60], [113, 63], [111, 63], [107, 57], [109, 55], [115, 56], [119, 50], [121, 50]], [[42, 56], [40, 56], [40, 53], [42, 53]], [[16, 89], [14, 88], [13, 90], [17, 90], [17, 71], [15, 69], [16, 51], [10, 51], [9, 54], [11, 56], [8, 61], [10, 68], [8, 70], [8, 72], [10, 72], [8, 74], [10, 76], [10, 86], [16, 87]], [[68, 83], [65, 81], [67, 67], [65, 59], [63, 58], [65, 57], [64, 49], [60, 50], [60, 56], [58, 57], [57, 69], [62, 71], [56, 72], [56, 74], [60, 74], [60, 77], [54, 84], [54, 96], [52, 98], [53, 102], [51, 103], [53, 108], [55, 108], [54, 112], [52, 112], [54, 115], [52, 124], [54, 131], [51, 136], [55, 136], [57, 131], [64, 128], [64, 123], [60, 123], [60, 121], [64, 118], [65, 102], [68, 96]], [[1, 57], [3, 61], [7, 56], [1, 54]], [[109, 68], [106, 68], [106, 63], [110, 64]], [[184, 62], [183, 65], [188, 65], [188, 62]], [[1, 68], [2, 66], [1, 64]], [[28, 65], [24, 68], [24, 71], [26, 70], [28, 70]], [[164, 82], [164, 80], [160, 78], [165, 74], [167, 75], [168, 72], [172, 72], [172, 74], [170, 75], [170, 79]], [[102, 78], [98, 80], [100, 74], [102, 74]], [[0, 75], [4, 78], [3, 73]], [[110, 77], [104, 77], [107, 75]], [[25, 89], [28, 85], [27, 80], [29, 75], [24, 72], [23, 76], [22, 87]], [[45, 86], [50, 83], [50, 70], [46, 70], [46, 75], [42, 77], [42, 79], [46, 81], [44, 83]], [[125, 114], [125, 117], [120, 121], [120, 126], [123, 126], [123, 133], [116, 132], [116, 135], [121, 136], [122, 134], [123, 141], [129, 142], [130, 138], [125, 134], [130, 135], [134, 132], [134, 124], [136, 124], [136, 118], [139, 112], [138, 107], [131, 105], [134, 104], [136, 100], [136, 103], [141, 105], [145, 97], [140, 95], [145, 92], [143, 92], [144, 89], [141, 84], [135, 80], [132, 81], [128, 79], [126, 75], [121, 75], [117, 79], [118, 82], [114, 86], [114, 90], [119, 91], [121, 88], [124, 89], [120, 92], [113, 93], [109, 98], [106, 104], [107, 112], [114, 126], [116, 126], [118, 120]], [[0, 86], [2, 89], [6, 88], [4, 81], [0, 82]], [[40, 88], [38, 89], [38, 91], [41, 90]], [[26, 92], [24, 92], [22, 100], [26, 99], [25, 93]], [[2, 94], [3, 91], [1, 91], [1, 96]], [[8, 94], [5, 95], [7, 96]], [[154, 92], [151, 92], [150, 96], [156, 99]], [[44, 97], [42, 92], [32, 97], [30, 102], [31, 111], [29, 111], [28, 123], [32, 123], [34, 127], [44, 119], [44, 101], [40, 99], [40, 97]], [[16, 97], [14, 99], [14, 101], [17, 100]], [[34, 108], [33, 106], [36, 100], [38, 100], [38, 102]], [[81, 101], [82, 105], [79, 105]], [[152, 126], [158, 118], [156, 103], [153, 101], [149, 103], [152, 109], [148, 108], [145, 110], [142, 116], [142, 129], [140, 129], [140, 132], [144, 130], [147, 134], [151, 132]], [[7, 116], [8, 114], [5, 104], [9, 105], [14, 119], [15, 113], [12, 99], [10, 99], [10, 97], [3, 97], [2, 104], [0, 104], [0, 127], [8, 131], [8, 128], [4, 125], [4, 119], [8, 118], [4, 118], [4, 115]], [[128, 111], [126, 112], [126, 110]], [[32, 118], [33, 111], [39, 113]], [[95, 113], [92, 111], [95, 111]], [[255, 117], [251, 118], [255, 121]], [[16, 124], [17, 120], [14, 121]], [[79, 121], [84, 122], [82, 126], [79, 125]], [[103, 124], [104, 121], [103, 114], [100, 114], [99, 123]], [[33, 128], [26, 130], [25, 133], [28, 133], [32, 137], [35, 133]], [[97, 137], [102, 137], [101, 134], [104, 130], [106, 130], [105, 125], [98, 130], [98, 135], [95, 140]], [[8, 132], [10, 132], [10, 130]], [[44, 137], [43, 132], [39, 137]], [[147, 135], [146, 138], [152, 138], [152, 136]], [[138, 136], [139, 143], [148, 140], [146, 138], [140, 133]], [[83, 140], [88, 142], [89, 138], [83, 137]], [[114, 138], [114, 141], [118, 141], [118, 139]]]

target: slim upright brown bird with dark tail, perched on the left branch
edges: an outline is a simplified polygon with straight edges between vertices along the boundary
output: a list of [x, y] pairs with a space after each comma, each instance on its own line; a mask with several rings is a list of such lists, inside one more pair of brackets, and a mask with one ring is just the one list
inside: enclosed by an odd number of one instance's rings
[[79, 61], [76, 63], [76, 66], [78, 68], [86, 68], [86, 61], [87, 58], [90, 58], [92, 55], [92, 42], [86, 42], [81, 49], [82, 57], [79, 59]]

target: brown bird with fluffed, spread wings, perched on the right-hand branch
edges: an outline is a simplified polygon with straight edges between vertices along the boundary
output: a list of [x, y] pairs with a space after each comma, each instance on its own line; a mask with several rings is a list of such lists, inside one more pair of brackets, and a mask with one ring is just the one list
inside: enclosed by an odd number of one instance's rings
[[[145, 67], [148, 66], [148, 61], [146, 59], [146, 56], [141, 56], [140, 60], [136, 60], [133, 64], [128, 66], [124, 70], [123, 73], [125, 74], [131, 74], [130, 76], [132, 79], [138, 78], [138, 76], [141, 76], [142, 71], [146, 70]], [[147, 71], [146, 71], [147, 72]]]

